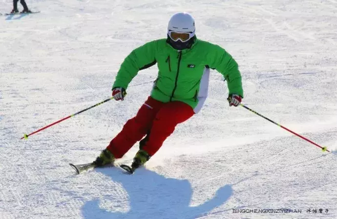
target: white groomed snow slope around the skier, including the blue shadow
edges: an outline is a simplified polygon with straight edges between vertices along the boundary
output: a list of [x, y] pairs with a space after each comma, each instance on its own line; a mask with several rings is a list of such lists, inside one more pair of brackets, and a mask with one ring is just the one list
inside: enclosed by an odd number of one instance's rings
[[[42, 12], [0, 17], [0, 219], [337, 218], [336, 0], [27, 4]], [[1, 13], [11, 9], [11, 0], [0, 0]], [[179, 11], [194, 16], [198, 38], [223, 46], [239, 63], [243, 104], [333, 153], [228, 107], [226, 84], [212, 71], [203, 110], [177, 127], [146, 168], [75, 175], [68, 163], [90, 162], [107, 146], [146, 100], [156, 66], [139, 72], [124, 102], [20, 140], [110, 97], [126, 55], [166, 37]], [[120, 162], [130, 163], [136, 151]]]

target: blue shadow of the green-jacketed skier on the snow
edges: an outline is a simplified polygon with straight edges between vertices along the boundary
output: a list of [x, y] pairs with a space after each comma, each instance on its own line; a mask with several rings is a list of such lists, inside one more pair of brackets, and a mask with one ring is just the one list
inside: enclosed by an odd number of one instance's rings
[[[82, 207], [84, 219], [195, 219], [225, 203], [232, 195], [232, 186], [218, 189], [215, 196], [195, 207], [190, 207], [192, 188], [188, 180], [166, 178], [141, 168], [134, 175], [121, 170], [103, 168], [97, 172], [110, 176], [121, 183], [128, 194], [130, 210], [115, 212], [99, 207], [99, 199], [87, 201]], [[101, 188], [104, 190], [104, 188]], [[207, 188], [205, 188], [207, 189]], [[118, 199], [119, 197], [116, 197]], [[114, 200], [115, 202], [115, 200]]]

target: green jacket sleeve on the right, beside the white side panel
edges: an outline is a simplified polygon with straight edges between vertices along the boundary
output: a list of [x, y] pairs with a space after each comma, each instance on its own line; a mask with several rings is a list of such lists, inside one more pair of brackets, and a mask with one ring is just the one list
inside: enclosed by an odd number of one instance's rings
[[236, 61], [218, 45], [213, 45], [210, 55], [210, 67], [220, 72], [227, 81], [229, 94], [238, 94], [243, 97], [241, 74]]

